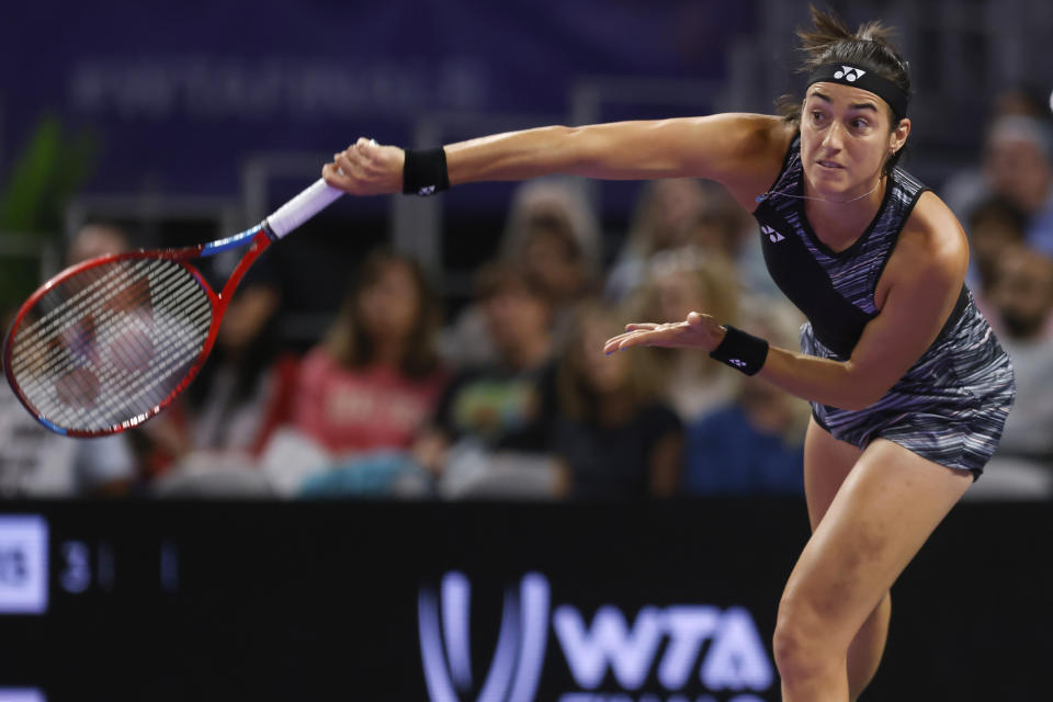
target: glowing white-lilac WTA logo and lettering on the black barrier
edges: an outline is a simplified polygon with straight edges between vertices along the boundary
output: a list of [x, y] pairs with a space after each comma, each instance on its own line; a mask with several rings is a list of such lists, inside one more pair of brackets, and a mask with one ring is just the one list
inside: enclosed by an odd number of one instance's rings
[[[758, 693], [774, 684], [774, 667], [757, 624], [741, 607], [648, 605], [627, 615], [604, 604], [588, 621], [573, 604], [553, 609], [548, 580], [530, 573], [505, 588], [485, 676], [472, 670], [467, 576], [452, 571], [438, 590], [421, 587], [417, 609], [432, 702], [534, 700], [550, 632], [577, 684], [558, 702], [765, 702]], [[553, 664], [554, 657], [548, 658]], [[599, 691], [610, 690], [611, 682], [615, 692]]]

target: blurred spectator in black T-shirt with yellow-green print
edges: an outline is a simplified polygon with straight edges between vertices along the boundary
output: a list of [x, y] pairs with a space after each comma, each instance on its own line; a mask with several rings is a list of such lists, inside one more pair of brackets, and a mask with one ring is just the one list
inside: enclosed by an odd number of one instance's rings
[[457, 374], [414, 453], [445, 496], [551, 496], [552, 304], [530, 271], [509, 262], [483, 271], [478, 303], [497, 361]]

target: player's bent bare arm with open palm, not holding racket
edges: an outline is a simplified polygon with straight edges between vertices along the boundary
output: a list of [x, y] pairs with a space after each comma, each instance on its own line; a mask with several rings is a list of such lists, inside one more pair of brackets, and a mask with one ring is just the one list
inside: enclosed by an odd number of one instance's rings
[[[878, 285], [881, 314], [863, 330], [846, 362], [770, 348], [758, 375], [797, 397], [858, 410], [876, 403], [936, 340], [954, 308], [969, 246], [961, 225], [932, 193], [926, 193], [899, 236]], [[632, 346], [695, 347], [713, 351], [724, 329], [691, 313], [675, 325], [630, 325], [605, 351]]]

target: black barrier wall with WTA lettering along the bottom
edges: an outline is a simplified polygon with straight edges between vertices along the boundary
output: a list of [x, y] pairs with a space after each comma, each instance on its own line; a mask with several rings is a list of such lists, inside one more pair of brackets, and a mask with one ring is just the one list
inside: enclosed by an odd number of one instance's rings
[[[1051, 524], [960, 506], [863, 699], [1050, 699]], [[772, 702], [806, 537], [796, 501], [8, 505], [0, 699]]]

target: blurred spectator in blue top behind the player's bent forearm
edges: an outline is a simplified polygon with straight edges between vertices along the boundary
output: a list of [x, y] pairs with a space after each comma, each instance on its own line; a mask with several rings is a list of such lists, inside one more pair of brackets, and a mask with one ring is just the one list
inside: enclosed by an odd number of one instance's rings
[[[794, 348], [795, 318], [780, 307], [744, 324], [772, 344]], [[706, 359], [709, 360], [709, 359]], [[687, 427], [683, 488], [691, 495], [801, 495], [808, 404], [756, 377], [736, 401]]]

